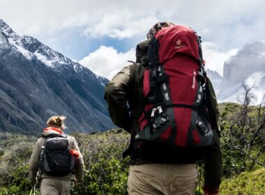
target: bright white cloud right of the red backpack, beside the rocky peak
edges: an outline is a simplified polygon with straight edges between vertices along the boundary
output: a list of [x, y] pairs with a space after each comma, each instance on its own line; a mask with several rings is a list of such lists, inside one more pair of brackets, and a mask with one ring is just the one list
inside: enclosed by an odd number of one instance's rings
[[218, 45], [213, 44], [213, 42], [202, 42], [202, 52], [206, 61], [206, 68], [215, 70], [219, 75], [222, 75], [225, 61], [236, 55], [239, 49], [220, 52]]

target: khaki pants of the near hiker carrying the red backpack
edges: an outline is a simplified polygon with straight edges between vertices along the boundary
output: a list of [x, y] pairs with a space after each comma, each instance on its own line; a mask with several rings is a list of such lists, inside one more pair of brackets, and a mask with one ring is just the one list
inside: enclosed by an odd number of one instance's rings
[[129, 195], [194, 195], [198, 184], [196, 164], [131, 165]]

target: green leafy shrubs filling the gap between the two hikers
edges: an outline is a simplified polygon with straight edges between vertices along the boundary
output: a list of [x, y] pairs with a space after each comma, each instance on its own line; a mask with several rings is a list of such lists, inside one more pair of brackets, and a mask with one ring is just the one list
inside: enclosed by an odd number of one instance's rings
[[128, 147], [128, 136], [120, 130], [104, 134], [75, 134], [84, 154], [84, 182], [71, 194], [126, 194], [129, 158], [121, 154]]

